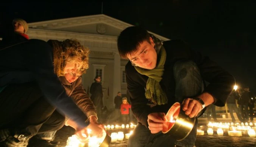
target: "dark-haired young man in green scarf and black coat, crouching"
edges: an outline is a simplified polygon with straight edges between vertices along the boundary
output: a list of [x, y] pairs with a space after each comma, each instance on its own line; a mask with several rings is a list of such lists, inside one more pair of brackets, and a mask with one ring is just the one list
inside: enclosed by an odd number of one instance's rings
[[[212, 103], [225, 106], [233, 76], [183, 41], [162, 43], [137, 26], [123, 30], [117, 46], [120, 56], [130, 60], [125, 67], [126, 82], [131, 109], [139, 121], [128, 147], [193, 147], [197, 121], [185, 139], [176, 141], [161, 133], [165, 113], [175, 102], [182, 103], [182, 110], [191, 118]], [[205, 89], [203, 80], [210, 83]]]

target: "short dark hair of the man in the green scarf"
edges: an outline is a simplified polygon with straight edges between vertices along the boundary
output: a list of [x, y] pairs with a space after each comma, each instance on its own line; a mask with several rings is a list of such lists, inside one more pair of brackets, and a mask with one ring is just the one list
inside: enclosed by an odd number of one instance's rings
[[117, 38], [120, 57], [127, 59], [127, 55], [132, 55], [136, 52], [143, 41], [150, 43], [149, 37], [150, 34], [147, 30], [138, 26], [131, 26], [124, 29]]

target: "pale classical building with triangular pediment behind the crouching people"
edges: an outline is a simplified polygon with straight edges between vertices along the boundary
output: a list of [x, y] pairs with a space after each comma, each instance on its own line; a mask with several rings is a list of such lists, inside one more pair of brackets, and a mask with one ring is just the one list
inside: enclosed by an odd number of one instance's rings
[[[113, 100], [117, 92], [121, 91], [126, 95], [127, 91], [124, 72], [127, 60], [119, 57], [117, 36], [129, 26], [132, 25], [100, 14], [29, 23], [28, 35], [30, 39], [45, 41], [73, 38], [89, 47], [90, 67], [83, 75], [84, 89], [87, 91], [94, 82], [94, 77], [100, 75], [104, 94], [103, 103], [111, 109], [114, 107]], [[169, 40], [157, 34], [154, 35], [163, 41]]]

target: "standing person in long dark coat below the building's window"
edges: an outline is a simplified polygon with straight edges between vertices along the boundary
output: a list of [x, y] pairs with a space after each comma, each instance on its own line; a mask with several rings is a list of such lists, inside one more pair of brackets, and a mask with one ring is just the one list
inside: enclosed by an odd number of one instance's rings
[[94, 83], [91, 85], [90, 93], [91, 95], [91, 100], [94, 103], [94, 106], [97, 110], [97, 115], [98, 115], [98, 121], [101, 121], [101, 109], [103, 109], [103, 92], [102, 92], [102, 86], [101, 86], [101, 77], [96, 76], [94, 78]]

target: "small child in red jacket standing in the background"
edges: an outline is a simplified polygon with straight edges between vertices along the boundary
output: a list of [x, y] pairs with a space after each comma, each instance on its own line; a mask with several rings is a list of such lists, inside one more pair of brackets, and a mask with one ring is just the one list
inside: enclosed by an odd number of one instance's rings
[[128, 124], [130, 121], [129, 108], [131, 108], [131, 105], [127, 102], [126, 97], [123, 97], [122, 100], [123, 100], [123, 103], [121, 104], [122, 121], [123, 123]]

